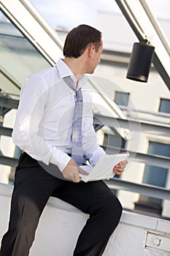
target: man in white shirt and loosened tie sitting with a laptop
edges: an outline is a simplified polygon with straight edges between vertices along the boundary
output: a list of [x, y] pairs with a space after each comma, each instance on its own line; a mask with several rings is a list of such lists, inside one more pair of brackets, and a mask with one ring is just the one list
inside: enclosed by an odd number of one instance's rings
[[[28, 78], [21, 90], [12, 138], [23, 153], [16, 168], [9, 228], [1, 242], [0, 256], [28, 256], [50, 196], [71, 203], [90, 216], [77, 240], [74, 256], [102, 255], [120, 221], [122, 206], [104, 181], [85, 183], [80, 182], [79, 176], [87, 174], [79, 166], [82, 154], [91, 165], [105, 154], [93, 129], [90, 96], [83, 91], [84, 75], [93, 74], [102, 49], [100, 31], [77, 26], [66, 37], [65, 58], [59, 59], [55, 67]], [[74, 136], [74, 114], [80, 109], [77, 119], [81, 123]], [[78, 154], [73, 152], [74, 140]], [[113, 172], [120, 175], [126, 164], [127, 161], [120, 162]]]

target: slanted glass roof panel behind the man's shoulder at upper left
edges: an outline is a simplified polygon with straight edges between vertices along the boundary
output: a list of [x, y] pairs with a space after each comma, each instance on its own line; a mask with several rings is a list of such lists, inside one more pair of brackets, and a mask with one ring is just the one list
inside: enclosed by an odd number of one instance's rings
[[41, 53], [0, 12], [0, 89], [19, 95], [26, 78], [48, 67]]

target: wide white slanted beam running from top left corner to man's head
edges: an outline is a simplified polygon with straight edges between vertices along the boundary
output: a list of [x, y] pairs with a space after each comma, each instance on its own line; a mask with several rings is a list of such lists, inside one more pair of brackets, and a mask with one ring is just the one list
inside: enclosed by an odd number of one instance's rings
[[1, 0], [0, 8], [42, 56], [54, 65], [62, 56], [62, 42], [34, 5], [26, 0]]

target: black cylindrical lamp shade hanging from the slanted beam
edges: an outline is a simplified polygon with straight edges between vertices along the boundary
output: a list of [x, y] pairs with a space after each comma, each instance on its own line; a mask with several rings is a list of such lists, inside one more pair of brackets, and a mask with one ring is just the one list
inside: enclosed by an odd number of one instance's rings
[[134, 42], [126, 78], [147, 82], [155, 47], [144, 42]]

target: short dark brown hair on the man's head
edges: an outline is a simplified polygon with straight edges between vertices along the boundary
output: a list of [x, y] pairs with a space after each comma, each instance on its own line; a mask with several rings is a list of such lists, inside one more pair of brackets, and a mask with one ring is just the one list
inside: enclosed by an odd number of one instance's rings
[[77, 26], [66, 36], [63, 56], [78, 58], [90, 45], [94, 45], [98, 52], [101, 46], [101, 31], [88, 25]]

